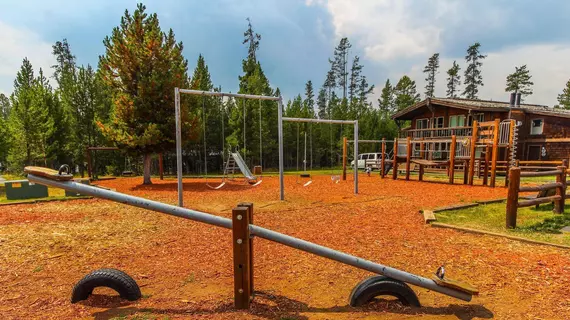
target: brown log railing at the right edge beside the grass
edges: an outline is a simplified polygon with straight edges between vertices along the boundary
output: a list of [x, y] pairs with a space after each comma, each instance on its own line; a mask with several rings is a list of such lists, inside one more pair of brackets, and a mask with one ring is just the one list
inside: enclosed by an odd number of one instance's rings
[[[537, 186], [521, 187], [521, 177], [556, 177], [556, 182], [545, 183]], [[539, 193], [535, 199], [519, 201], [519, 192], [532, 191], [548, 191], [556, 189], [553, 196], [541, 196]], [[564, 202], [566, 200], [566, 167], [558, 166], [556, 170], [538, 171], [538, 172], [521, 172], [521, 168], [514, 167], [509, 170], [509, 193], [507, 195], [507, 228], [515, 228], [517, 226], [517, 210], [522, 207], [529, 207], [541, 203], [554, 202], [554, 212], [564, 213]]]

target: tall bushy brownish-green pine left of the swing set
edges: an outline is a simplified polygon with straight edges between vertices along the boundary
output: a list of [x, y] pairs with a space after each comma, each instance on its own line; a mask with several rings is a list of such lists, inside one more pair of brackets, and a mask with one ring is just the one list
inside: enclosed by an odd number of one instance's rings
[[[174, 88], [187, 87], [188, 62], [172, 29], [162, 32], [156, 13], [145, 10], [139, 4], [132, 15], [125, 11], [120, 26], [103, 41], [99, 69], [115, 105], [114, 120], [101, 127], [119, 147], [144, 156], [143, 183], [151, 184], [152, 154], [174, 147]], [[181, 109], [186, 125], [187, 103]]]

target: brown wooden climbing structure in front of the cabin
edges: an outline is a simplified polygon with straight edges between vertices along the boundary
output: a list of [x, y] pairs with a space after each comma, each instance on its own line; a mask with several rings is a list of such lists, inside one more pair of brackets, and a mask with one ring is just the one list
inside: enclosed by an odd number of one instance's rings
[[[456, 169], [463, 167], [464, 184], [473, 185], [477, 171], [479, 176], [483, 176], [483, 185], [495, 187], [497, 173], [508, 172], [516, 164], [516, 127], [515, 120], [501, 122], [495, 119], [487, 122], [475, 120], [470, 127], [409, 130], [405, 140], [394, 139], [392, 159], [385, 159], [387, 142], [382, 139], [381, 176], [384, 177], [392, 168], [392, 178], [397, 179], [399, 165], [405, 164], [406, 180], [410, 180], [413, 165], [419, 167], [420, 181], [426, 168], [435, 168], [445, 172], [449, 183], [453, 184]], [[499, 160], [501, 153], [505, 158], [503, 161]], [[508, 175], [505, 178], [507, 185]]]

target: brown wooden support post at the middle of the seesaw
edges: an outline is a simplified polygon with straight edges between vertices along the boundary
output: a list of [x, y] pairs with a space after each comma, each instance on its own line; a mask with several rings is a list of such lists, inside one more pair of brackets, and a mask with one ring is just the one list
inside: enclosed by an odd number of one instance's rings
[[252, 292], [249, 208], [237, 207], [232, 210], [232, 236], [235, 307], [236, 309], [249, 309]]

